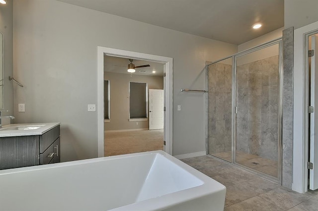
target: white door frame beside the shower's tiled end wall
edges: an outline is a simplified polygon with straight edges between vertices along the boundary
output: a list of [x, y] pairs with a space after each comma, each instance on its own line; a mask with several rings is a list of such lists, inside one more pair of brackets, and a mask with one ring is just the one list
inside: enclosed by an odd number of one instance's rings
[[[292, 190], [308, 191], [308, 38], [318, 33], [318, 21], [294, 31], [294, 121]], [[302, 99], [302, 100], [301, 100]], [[302, 128], [302, 130], [299, 130]]]

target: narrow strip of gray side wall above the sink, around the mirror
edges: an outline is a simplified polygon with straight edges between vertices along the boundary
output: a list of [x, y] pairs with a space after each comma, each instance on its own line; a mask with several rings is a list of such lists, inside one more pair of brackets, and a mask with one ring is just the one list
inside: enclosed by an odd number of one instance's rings
[[[13, 115], [13, 84], [9, 76], [13, 76], [13, 0], [7, 0], [0, 5], [0, 32], [3, 34], [3, 72], [4, 72], [4, 115]], [[9, 124], [10, 119], [4, 118], [3, 124]], [[12, 121], [13, 123], [13, 121]]]

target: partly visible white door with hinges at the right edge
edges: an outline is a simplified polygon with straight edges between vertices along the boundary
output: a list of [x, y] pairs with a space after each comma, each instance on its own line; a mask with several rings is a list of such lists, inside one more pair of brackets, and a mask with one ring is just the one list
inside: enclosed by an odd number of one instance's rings
[[[318, 189], [318, 36], [312, 37], [311, 50], [314, 56], [311, 57], [311, 106], [314, 112], [310, 115], [310, 162], [313, 169], [310, 169], [309, 189]], [[315, 153], [316, 152], [316, 153]]]

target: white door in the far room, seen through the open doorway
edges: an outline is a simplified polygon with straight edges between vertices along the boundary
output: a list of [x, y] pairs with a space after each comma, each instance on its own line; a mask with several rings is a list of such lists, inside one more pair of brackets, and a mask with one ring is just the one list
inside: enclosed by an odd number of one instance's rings
[[163, 129], [163, 90], [149, 89], [149, 130]]

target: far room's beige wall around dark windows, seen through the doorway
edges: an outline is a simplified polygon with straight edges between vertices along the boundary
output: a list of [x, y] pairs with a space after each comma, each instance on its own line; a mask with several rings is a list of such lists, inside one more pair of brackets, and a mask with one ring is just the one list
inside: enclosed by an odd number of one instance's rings
[[[148, 128], [149, 121], [130, 122], [129, 82], [147, 83], [148, 89], [163, 89], [163, 77], [104, 72], [104, 79], [110, 84], [110, 122], [105, 122], [105, 130], [127, 130]], [[148, 109], [149, 110], [149, 109]], [[149, 116], [149, 115], [148, 115]]]

